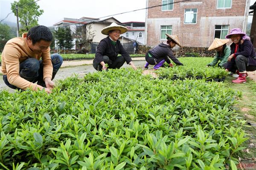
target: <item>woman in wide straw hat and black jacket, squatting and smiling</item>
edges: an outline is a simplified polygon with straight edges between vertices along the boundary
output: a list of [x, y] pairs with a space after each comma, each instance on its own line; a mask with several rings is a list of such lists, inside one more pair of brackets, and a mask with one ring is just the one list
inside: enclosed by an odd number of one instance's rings
[[[104, 35], [108, 35], [108, 37], [99, 42], [95, 59], [93, 60], [93, 67], [98, 71], [102, 69], [106, 70], [107, 68], [119, 69], [126, 61], [127, 64], [130, 64], [136, 70], [137, 68], [134, 66], [130, 55], [118, 40], [120, 34], [127, 32], [127, 28], [116, 23], [111, 23], [110, 26], [105, 27], [101, 32]], [[121, 56], [117, 56], [119, 54]]]

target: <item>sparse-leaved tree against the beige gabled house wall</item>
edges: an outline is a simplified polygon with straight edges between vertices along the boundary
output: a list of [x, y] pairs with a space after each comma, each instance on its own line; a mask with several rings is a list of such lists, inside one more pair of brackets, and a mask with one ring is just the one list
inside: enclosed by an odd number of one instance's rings
[[90, 43], [95, 37], [95, 31], [91, 31], [91, 25], [76, 26], [76, 32], [73, 33], [73, 37], [77, 39], [79, 45], [82, 45], [84, 52], [90, 52]]

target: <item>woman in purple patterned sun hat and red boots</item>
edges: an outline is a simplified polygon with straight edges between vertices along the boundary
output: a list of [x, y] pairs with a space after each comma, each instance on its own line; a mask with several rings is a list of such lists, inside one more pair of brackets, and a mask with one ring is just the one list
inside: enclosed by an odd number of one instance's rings
[[238, 69], [239, 77], [232, 83], [246, 83], [247, 72], [256, 70], [256, 53], [253, 44], [246, 34], [239, 28], [231, 29], [226, 38], [230, 38], [233, 43], [230, 45], [231, 55], [228, 57], [226, 71], [236, 72]]

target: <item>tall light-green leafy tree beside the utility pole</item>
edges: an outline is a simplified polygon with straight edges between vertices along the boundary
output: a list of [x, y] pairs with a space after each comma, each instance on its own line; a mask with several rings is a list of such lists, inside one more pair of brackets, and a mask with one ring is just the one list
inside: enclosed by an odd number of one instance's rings
[[16, 5], [18, 6], [18, 17], [23, 29], [20, 32], [27, 32], [33, 26], [38, 26], [38, 17], [43, 14], [44, 10], [34, 0], [19, 0], [11, 3], [12, 12], [16, 14]]

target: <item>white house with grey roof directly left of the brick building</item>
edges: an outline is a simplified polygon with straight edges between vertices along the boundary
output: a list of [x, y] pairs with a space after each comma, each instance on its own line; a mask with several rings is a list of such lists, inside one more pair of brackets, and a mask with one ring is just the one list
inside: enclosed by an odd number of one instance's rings
[[121, 36], [145, 44], [145, 22], [131, 21], [123, 24], [127, 27], [128, 31]]

